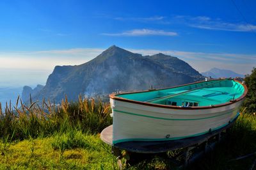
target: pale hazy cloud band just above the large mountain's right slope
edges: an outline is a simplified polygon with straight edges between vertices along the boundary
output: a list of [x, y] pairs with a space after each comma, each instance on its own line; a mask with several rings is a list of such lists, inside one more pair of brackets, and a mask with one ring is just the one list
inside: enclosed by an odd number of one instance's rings
[[232, 70], [237, 73], [250, 73], [256, 65], [256, 54], [230, 54], [230, 53], [207, 53], [207, 52], [188, 52], [180, 50], [154, 50], [154, 49], [128, 49], [143, 55], [152, 55], [159, 52], [170, 56], [178, 57], [189, 65], [193, 66], [198, 72], [205, 72], [211, 68]]

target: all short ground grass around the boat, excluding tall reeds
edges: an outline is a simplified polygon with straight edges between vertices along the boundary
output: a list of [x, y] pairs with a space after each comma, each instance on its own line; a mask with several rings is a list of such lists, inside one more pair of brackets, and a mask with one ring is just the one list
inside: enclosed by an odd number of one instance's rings
[[[232, 127], [230, 137], [189, 169], [249, 169], [256, 156], [232, 159], [256, 151], [255, 139], [256, 116], [244, 114]], [[100, 141], [99, 134], [81, 130], [11, 143], [3, 140], [0, 146], [0, 169], [117, 169], [111, 146]], [[172, 169], [172, 155], [175, 153], [150, 155], [136, 164], [127, 164], [125, 169]]]

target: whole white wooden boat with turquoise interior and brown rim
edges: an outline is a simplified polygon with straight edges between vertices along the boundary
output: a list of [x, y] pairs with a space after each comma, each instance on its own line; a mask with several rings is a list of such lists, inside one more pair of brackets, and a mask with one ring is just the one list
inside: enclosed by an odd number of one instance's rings
[[221, 129], [239, 116], [247, 91], [244, 82], [236, 79], [214, 79], [112, 93], [109, 144], [186, 139]]

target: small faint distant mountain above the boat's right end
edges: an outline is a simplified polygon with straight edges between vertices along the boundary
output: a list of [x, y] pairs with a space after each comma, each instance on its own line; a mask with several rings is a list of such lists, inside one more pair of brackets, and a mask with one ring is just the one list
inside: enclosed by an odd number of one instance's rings
[[211, 70], [209, 70], [208, 72], [203, 72], [202, 75], [204, 75], [205, 77], [212, 77], [214, 79], [220, 78], [220, 77], [244, 77], [244, 75], [233, 72], [231, 70], [223, 70], [220, 68], [212, 68]]

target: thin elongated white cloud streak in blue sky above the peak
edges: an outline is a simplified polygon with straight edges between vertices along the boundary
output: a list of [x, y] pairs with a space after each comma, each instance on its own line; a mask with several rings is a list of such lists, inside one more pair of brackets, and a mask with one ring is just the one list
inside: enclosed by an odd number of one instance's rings
[[178, 33], [156, 29], [132, 29], [122, 33], [102, 33], [107, 36], [177, 36]]

